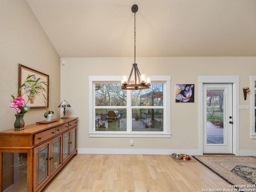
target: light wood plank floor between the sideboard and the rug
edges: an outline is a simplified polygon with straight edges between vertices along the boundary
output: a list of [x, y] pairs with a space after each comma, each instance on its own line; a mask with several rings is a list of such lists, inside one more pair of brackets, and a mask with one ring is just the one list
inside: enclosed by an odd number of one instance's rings
[[169, 155], [78, 154], [42, 192], [202, 192], [204, 189], [231, 188], [199, 162], [175, 162]]

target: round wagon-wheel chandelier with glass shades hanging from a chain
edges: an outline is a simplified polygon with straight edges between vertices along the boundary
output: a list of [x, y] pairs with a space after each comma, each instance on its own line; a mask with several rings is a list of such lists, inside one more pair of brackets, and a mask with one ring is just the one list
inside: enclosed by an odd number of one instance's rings
[[[132, 64], [132, 71], [128, 78], [127, 75], [124, 75], [121, 80], [121, 88], [126, 90], [140, 90], [148, 89], [151, 83], [150, 78], [146, 77], [146, 74], [140, 74], [138, 66], [135, 62], [135, 50], [136, 50], [136, 12], [138, 11], [138, 6], [132, 6], [132, 12], [134, 13], [134, 64]], [[134, 70], [134, 82], [131, 82], [132, 72]]]

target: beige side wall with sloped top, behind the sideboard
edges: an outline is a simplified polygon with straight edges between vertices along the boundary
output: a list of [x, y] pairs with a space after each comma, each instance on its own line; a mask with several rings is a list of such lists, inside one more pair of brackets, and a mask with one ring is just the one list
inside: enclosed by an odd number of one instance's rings
[[[14, 128], [16, 110], [9, 107], [18, 90], [18, 64], [50, 76], [49, 109], [60, 116], [60, 57], [25, 0], [0, 2], [0, 130]], [[45, 109], [30, 109], [25, 124], [44, 120]]]

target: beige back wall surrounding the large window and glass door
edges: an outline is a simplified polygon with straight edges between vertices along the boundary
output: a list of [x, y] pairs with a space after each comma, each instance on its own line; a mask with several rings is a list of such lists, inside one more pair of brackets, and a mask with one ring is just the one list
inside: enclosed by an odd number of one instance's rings
[[[89, 138], [88, 76], [122, 76], [129, 74], [134, 58], [61, 58], [61, 98], [68, 100], [68, 116], [79, 117], [78, 148], [80, 152], [188, 152], [199, 148], [198, 76], [239, 75], [240, 105], [250, 105], [250, 92], [244, 100], [243, 87], [250, 86], [250, 75], [256, 74], [256, 57], [174, 57], [138, 58], [140, 72], [148, 76], [171, 76], [171, 138]], [[69, 78], [67, 78], [69, 77]], [[195, 84], [194, 103], [175, 103], [176, 84]], [[65, 85], [65, 87], [64, 87]], [[130, 146], [130, 139], [134, 146]], [[122, 149], [122, 150], [120, 150]], [[148, 149], [151, 149], [148, 150]], [[250, 110], [240, 110], [241, 154], [256, 153], [256, 140], [250, 139]]]

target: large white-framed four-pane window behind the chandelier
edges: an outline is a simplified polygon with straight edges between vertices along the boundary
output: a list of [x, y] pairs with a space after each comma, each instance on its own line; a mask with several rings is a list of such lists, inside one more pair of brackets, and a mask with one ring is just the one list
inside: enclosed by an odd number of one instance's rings
[[91, 137], [170, 137], [170, 76], [122, 90], [121, 76], [90, 76]]

